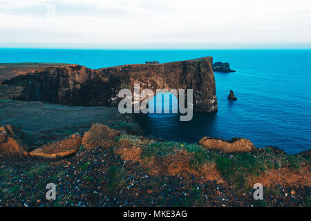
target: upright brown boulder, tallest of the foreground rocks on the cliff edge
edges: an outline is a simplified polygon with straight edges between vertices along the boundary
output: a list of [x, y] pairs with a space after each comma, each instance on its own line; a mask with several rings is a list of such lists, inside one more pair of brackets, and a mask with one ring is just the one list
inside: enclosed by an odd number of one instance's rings
[[83, 136], [82, 145], [86, 149], [95, 148], [96, 146], [105, 146], [111, 142], [121, 131], [109, 128], [104, 124], [93, 124], [90, 131], [86, 131]]

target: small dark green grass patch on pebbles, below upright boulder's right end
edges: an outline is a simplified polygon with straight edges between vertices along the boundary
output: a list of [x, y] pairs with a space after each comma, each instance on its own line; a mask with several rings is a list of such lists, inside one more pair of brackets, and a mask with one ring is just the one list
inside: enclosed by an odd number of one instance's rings
[[124, 167], [111, 166], [108, 174], [108, 186], [110, 191], [117, 191], [126, 183], [126, 171]]

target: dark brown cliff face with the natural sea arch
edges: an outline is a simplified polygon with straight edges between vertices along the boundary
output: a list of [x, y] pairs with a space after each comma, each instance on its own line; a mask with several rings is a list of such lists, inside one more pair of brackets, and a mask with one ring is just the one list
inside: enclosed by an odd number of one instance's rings
[[122, 88], [141, 90], [193, 89], [194, 111], [217, 111], [212, 58], [204, 57], [165, 64], [133, 64], [92, 70], [84, 66], [51, 67], [3, 81], [21, 86], [15, 99], [42, 101], [70, 106], [117, 106]]

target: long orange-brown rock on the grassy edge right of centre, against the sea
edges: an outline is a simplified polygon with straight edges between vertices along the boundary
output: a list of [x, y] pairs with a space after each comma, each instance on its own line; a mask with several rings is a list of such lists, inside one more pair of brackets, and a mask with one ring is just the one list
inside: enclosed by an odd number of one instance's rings
[[225, 153], [249, 152], [254, 151], [255, 146], [250, 140], [245, 138], [232, 138], [232, 140], [223, 140], [212, 137], [203, 137], [200, 144], [208, 149], [223, 151]]

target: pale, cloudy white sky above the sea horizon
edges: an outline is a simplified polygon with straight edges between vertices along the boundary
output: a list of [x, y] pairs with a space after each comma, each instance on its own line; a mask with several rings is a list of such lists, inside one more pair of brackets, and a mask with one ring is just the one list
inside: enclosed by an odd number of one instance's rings
[[0, 0], [1, 48], [311, 48], [310, 0]]

